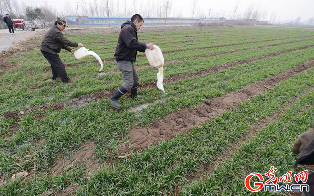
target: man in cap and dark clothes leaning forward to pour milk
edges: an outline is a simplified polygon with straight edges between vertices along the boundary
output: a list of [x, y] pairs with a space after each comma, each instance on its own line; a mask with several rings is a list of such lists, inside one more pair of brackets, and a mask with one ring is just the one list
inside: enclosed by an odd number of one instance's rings
[[82, 43], [78, 44], [64, 37], [62, 31], [65, 29], [66, 26], [66, 20], [58, 17], [57, 20], [54, 22], [52, 28], [50, 28], [49, 31], [45, 34], [44, 39], [40, 45], [41, 53], [51, 65], [52, 81], [60, 77], [62, 82], [64, 83], [70, 82], [70, 78], [68, 77], [65, 66], [61, 61], [58, 53], [60, 53], [62, 48], [74, 54], [76, 50], [71, 49], [69, 46], [83, 46]]

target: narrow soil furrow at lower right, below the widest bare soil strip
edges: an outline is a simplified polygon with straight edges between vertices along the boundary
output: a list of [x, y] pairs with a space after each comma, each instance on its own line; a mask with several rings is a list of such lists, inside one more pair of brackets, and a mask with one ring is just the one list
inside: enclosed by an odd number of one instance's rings
[[246, 141], [253, 138], [253, 136], [260, 132], [262, 130], [262, 127], [273, 122], [277, 119], [277, 117], [285, 112], [291, 105], [296, 103], [301, 97], [303, 97], [306, 93], [312, 91], [314, 89], [313, 86], [310, 86], [306, 91], [304, 91], [301, 95], [299, 95], [296, 99], [294, 99], [292, 102], [290, 102], [288, 105], [283, 106], [282, 108], [278, 109], [273, 113], [272, 116], [267, 117], [266, 119], [257, 119], [259, 121], [259, 124], [256, 125], [250, 125], [250, 129], [246, 133], [246, 135], [243, 135], [239, 142], [230, 144], [226, 149], [228, 151], [225, 151], [224, 153], [219, 154], [216, 158], [214, 158], [214, 161], [211, 164], [205, 163], [201, 165], [202, 172], [193, 172], [193, 174], [187, 176], [189, 181], [195, 181], [196, 179], [200, 178], [203, 175], [203, 172], [212, 172], [214, 167], [219, 165], [224, 160], [229, 159], [232, 156], [232, 153], [235, 153], [238, 148], [241, 146], [241, 144], [244, 144]]

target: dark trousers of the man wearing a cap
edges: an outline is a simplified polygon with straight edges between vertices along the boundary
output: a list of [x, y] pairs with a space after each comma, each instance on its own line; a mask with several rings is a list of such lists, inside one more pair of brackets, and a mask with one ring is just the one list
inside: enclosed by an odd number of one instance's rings
[[40, 51], [51, 65], [52, 80], [60, 77], [62, 82], [69, 82], [70, 78], [68, 77], [67, 71], [65, 71], [65, 66], [61, 61], [59, 55], [51, 54], [42, 50]]

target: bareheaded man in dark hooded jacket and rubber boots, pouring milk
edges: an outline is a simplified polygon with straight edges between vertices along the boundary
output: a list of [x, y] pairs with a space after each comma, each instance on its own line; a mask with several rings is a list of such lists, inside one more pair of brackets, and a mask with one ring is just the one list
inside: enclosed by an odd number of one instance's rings
[[138, 41], [137, 31], [141, 29], [143, 23], [142, 16], [135, 14], [132, 16], [131, 21], [127, 20], [121, 25], [114, 57], [117, 61], [118, 69], [122, 73], [124, 83], [108, 99], [111, 105], [117, 109], [120, 109], [118, 98], [129, 90], [131, 90], [131, 98], [137, 97], [139, 75], [134, 67], [137, 51], [145, 52], [145, 49], [154, 49], [154, 44], [146, 44]]

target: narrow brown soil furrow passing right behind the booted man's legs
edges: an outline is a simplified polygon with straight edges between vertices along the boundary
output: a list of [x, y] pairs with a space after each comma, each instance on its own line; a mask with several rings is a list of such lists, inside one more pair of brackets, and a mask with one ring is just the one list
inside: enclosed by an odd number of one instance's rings
[[[277, 52], [277, 53], [273, 53], [273, 54], [267, 54], [267, 55], [264, 55], [264, 56], [254, 57], [254, 58], [251, 58], [251, 59], [241, 60], [241, 61], [237, 61], [237, 62], [233, 62], [233, 63], [221, 64], [221, 65], [218, 65], [218, 66], [215, 66], [215, 67], [198, 70], [198, 71], [191, 72], [191, 73], [183, 73], [183, 74], [180, 74], [180, 75], [175, 75], [175, 76], [164, 78], [163, 83], [164, 84], [168, 84], [168, 83], [175, 82], [175, 81], [178, 81], [178, 80], [181, 80], [181, 79], [186, 79], [186, 78], [189, 78], [189, 77], [200, 76], [200, 75], [206, 74], [206, 73], [215, 73], [215, 72], [218, 72], [220, 70], [227, 69], [227, 68], [230, 68], [230, 67], [234, 67], [234, 66], [237, 66], [237, 65], [250, 63], [250, 62], [261, 60], [261, 59], [264, 59], [264, 58], [270, 58], [270, 57], [273, 57], [273, 56], [281, 55], [281, 54], [284, 54], [284, 53], [288, 53], [288, 52], [296, 51], [296, 50], [300, 50], [300, 49], [306, 49], [306, 48], [310, 48], [310, 47], [313, 47], [313, 46], [314, 45], [310, 45], [310, 46], [306, 46], [306, 47], [300, 47], [300, 48], [297, 48], [297, 49], [289, 49], [289, 50], [286, 50], [286, 51]], [[139, 88], [151, 88], [151, 87], [155, 87], [155, 86], [156, 86], [156, 81], [150, 81], [150, 82], [145, 82], [145, 83], [140, 83], [139, 84]], [[102, 91], [102, 92], [98, 92], [98, 93], [78, 96], [77, 98], [73, 98], [73, 99], [60, 100], [60, 101], [56, 101], [56, 102], [52, 102], [52, 103], [45, 103], [45, 104], [42, 104], [42, 105], [29, 107], [29, 108], [26, 108], [26, 109], [23, 109], [23, 110], [20, 110], [20, 111], [8, 111], [8, 112], [4, 113], [3, 116], [5, 118], [17, 118], [18, 116], [24, 116], [24, 115], [28, 114], [29, 112], [35, 112], [38, 109], [47, 110], [49, 108], [52, 108], [53, 110], [57, 111], [57, 110], [63, 109], [66, 105], [68, 105], [69, 107], [86, 105], [90, 101], [96, 101], [96, 100], [99, 100], [101, 98], [104, 98], [105, 96], [108, 97], [108, 96], [112, 95], [114, 93], [114, 91], [115, 91], [115, 89], [110, 89], [110, 90]]]

